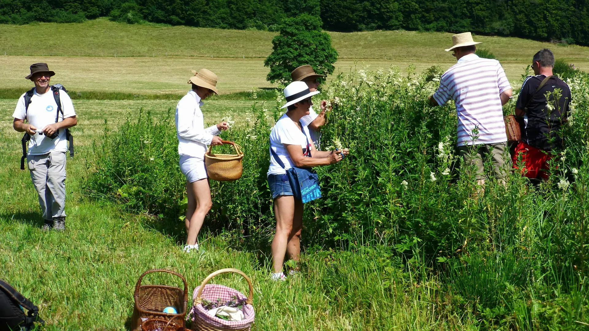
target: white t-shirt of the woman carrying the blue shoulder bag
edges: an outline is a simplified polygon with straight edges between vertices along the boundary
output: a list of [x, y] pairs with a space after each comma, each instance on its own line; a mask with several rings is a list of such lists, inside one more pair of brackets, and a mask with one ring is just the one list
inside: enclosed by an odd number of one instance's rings
[[[306, 126], [303, 126], [305, 134], [300, 131], [299, 127], [288, 117], [286, 114], [280, 117], [280, 120], [276, 122], [276, 125], [272, 128], [270, 133], [270, 148], [278, 155], [284, 167], [290, 169], [293, 167], [292, 160], [290, 160], [290, 154], [286, 150], [287, 145], [300, 145], [303, 149], [303, 153], [307, 148], [307, 139], [311, 144], [311, 137], [309, 137], [309, 130]], [[280, 164], [274, 160], [272, 152], [270, 152], [270, 168], [268, 168], [268, 175], [280, 175], [286, 174], [285, 168], [281, 167]]]

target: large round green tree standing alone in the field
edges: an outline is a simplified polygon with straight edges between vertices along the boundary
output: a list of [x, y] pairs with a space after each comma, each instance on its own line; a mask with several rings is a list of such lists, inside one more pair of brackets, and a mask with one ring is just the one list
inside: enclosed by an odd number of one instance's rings
[[290, 72], [300, 65], [310, 64], [321, 75], [332, 74], [335, 69], [337, 51], [316, 16], [300, 14], [284, 19], [272, 44], [272, 54], [264, 61], [264, 66], [270, 67], [266, 77], [270, 82], [289, 83]]

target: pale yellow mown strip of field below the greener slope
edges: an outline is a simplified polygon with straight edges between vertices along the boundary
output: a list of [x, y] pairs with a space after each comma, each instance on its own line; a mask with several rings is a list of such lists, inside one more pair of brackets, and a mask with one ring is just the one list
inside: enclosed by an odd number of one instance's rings
[[[415, 61], [418, 71], [437, 65], [448, 69], [455, 63], [454, 57], [444, 53], [439, 61]], [[531, 58], [531, 56], [530, 56]], [[219, 76], [220, 94], [248, 91], [256, 88], [278, 87], [266, 81], [269, 68], [262, 59], [229, 58], [150, 58], [150, 57], [35, 57], [0, 56], [0, 80], [2, 88], [18, 88], [25, 91], [31, 82], [24, 79], [29, 65], [47, 62], [55, 71], [52, 83], [60, 82], [68, 90], [81, 92], [108, 92], [123, 94], [178, 94], [188, 91], [191, 69], [207, 68]], [[410, 60], [345, 60], [336, 62], [336, 71], [328, 77], [333, 80], [339, 72], [348, 74], [369, 65], [373, 69], [396, 65], [406, 71]], [[510, 81], [521, 78], [528, 61], [501, 61]], [[575, 62], [580, 68], [589, 69], [589, 61]], [[514, 86], [519, 84], [514, 83]], [[114, 97], [117, 98], [117, 97]]]

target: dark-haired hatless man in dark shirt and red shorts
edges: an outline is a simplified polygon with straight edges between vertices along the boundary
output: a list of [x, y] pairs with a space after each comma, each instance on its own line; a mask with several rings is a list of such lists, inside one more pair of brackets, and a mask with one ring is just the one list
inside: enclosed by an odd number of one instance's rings
[[522, 174], [528, 178], [547, 178], [545, 170], [548, 170], [551, 156], [546, 152], [562, 149], [561, 127], [568, 118], [571, 90], [567, 83], [552, 75], [552, 67], [554, 55], [550, 49], [541, 49], [534, 55], [535, 76], [525, 79], [515, 105], [521, 141], [515, 147], [513, 167], [518, 168], [521, 155]]

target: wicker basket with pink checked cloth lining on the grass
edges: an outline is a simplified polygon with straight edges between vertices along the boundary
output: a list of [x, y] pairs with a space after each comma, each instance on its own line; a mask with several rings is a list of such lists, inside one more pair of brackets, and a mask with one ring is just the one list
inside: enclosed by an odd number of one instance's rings
[[[219, 284], [207, 284], [209, 280], [211, 280], [214, 276], [222, 273], [237, 273], [240, 274], [244, 279], [247, 281], [247, 286], [249, 286], [249, 294], [247, 295], [246, 303], [243, 305], [243, 315], [244, 319], [240, 321], [231, 321], [231, 320], [224, 320], [220, 319], [216, 316], [211, 316], [204, 309], [203, 299], [212, 301], [212, 300], [231, 300], [234, 296], [237, 299], [245, 299], [246, 296], [231, 287], [219, 285]], [[252, 324], [254, 323], [254, 318], [256, 317], [254, 313], [254, 307], [252, 306], [253, 303], [253, 296], [254, 296], [254, 288], [252, 286], [252, 280], [246, 276], [239, 269], [227, 268], [217, 270], [214, 273], [211, 273], [207, 276], [203, 283], [200, 284], [196, 289], [194, 289], [193, 294], [193, 306], [190, 310], [192, 315], [192, 326], [191, 328], [194, 331], [248, 331]]]

